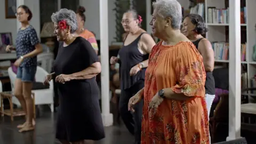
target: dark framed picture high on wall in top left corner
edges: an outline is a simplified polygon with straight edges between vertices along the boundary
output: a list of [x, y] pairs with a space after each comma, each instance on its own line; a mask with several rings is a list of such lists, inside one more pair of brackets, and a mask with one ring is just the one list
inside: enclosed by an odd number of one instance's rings
[[5, 19], [16, 18], [17, 0], [5, 0]]

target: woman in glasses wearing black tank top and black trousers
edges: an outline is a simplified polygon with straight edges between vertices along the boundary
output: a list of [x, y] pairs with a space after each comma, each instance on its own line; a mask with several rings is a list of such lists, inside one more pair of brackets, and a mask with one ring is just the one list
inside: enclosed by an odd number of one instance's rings
[[[135, 135], [135, 143], [140, 143], [141, 116], [143, 102], [135, 106], [133, 115], [128, 111], [129, 99], [144, 87], [145, 70], [148, 66], [148, 54], [155, 45], [153, 38], [140, 28], [142, 18], [134, 10], [123, 14], [122, 25], [128, 34], [117, 57], [111, 57], [110, 63], [120, 64], [121, 97], [119, 110], [127, 129]], [[133, 121], [134, 117], [134, 121]]]

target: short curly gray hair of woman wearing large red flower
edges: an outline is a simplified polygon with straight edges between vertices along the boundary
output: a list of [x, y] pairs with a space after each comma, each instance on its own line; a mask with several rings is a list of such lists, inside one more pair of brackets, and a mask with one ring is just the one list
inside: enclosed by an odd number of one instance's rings
[[70, 33], [74, 33], [77, 26], [76, 13], [68, 9], [60, 9], [60, 11], [55, 12], [51, 16], [52, 22], [59, 23], [61, 20], [66, 20], [67, 25], [71, 27]]

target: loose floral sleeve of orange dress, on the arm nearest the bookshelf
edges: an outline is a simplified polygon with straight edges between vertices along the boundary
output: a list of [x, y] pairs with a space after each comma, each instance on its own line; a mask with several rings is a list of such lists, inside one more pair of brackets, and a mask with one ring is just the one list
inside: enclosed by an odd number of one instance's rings
[[173, 63], [178, 83], [172, 86], [172, 90], [187, 96], [204, 97], [206, 74], [201, 54], [194, 45], [180, 45], [177, 50], [178, 57]]

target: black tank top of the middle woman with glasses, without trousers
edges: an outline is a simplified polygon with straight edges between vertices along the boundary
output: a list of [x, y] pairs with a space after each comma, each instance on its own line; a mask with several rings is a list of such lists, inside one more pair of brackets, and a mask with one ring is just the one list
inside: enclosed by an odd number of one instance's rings
[[[132, 43], [126, 45], [119, 50], [119, 63], [120, 63], [120, 81], [121, 90], [129, 89], [138, 81], [145, 80], [146, 68], [142, 68], [136, 75], [130, 76], [130, 70], [133, 66], [138, 65], [140, 62], [148, 59], [149, 54], [142, 54], [138, 49], [141, 33]], [[126, 38], [125, 38], [126, 39]], [[124, 40], [125, 42], [125, 40]]]

